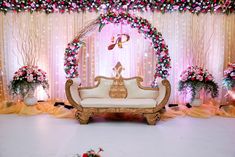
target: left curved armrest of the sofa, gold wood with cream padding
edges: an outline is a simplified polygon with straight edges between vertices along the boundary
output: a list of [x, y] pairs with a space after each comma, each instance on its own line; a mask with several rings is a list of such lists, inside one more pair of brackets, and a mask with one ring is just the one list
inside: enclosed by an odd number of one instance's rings
[[69, 79], [65, 84], [65, 93], [69, 103], [77, 108], [78, 110], [82, 110], [82, 106], [80, 105], [81, 98], [78, 93], [78, 81], [75, 79]]

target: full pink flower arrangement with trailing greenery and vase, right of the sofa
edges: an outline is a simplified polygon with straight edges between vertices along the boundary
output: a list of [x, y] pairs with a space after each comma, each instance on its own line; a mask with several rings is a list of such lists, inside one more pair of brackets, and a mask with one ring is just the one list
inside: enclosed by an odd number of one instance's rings
[[212, 98], [218, 96], [218, 85], [208, 70], [198, 66], [190, 66], [182, 72], [179, 81], [179, 91], [190, 92], [192, 105], [200, 105], [199, 91], [204, 89]]

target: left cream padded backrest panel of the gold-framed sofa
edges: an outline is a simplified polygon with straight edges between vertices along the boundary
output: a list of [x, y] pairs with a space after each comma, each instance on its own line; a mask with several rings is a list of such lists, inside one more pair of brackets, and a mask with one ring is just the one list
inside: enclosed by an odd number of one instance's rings
[[98, 87], [93, 89], [79, 89], [81, 99], [86, 98], [109, 98], [109, 90], [113, 83], [113, 80], [100, 79]]

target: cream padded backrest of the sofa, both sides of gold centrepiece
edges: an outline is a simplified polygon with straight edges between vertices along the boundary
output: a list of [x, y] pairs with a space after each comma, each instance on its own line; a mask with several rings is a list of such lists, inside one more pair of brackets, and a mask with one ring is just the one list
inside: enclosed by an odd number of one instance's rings
[[[81, 99], [86, 98], [110, 98], [109, 91], [114, 78], [98, 76], [95, 87], [79, 88]], [[127, 99], [157, 99], [159, 95], [158, 88], [150, 88], [141, 86], [143, 81], [140, 77], [123, 78], [125, 87], [127, 88]]]

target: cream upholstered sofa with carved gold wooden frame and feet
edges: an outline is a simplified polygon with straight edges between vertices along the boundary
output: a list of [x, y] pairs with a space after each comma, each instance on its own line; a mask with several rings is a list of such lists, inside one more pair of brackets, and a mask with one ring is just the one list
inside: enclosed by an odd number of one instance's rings
[[159, 111], [170, 97], [168, 80], [161, 80], [158, 88], [150, 88], [141, 86], [143, 79], [140, 77], [124, 78], [127, 97], [122, 99], [109, 97], [113, 80], [114, 78], [98, 76], [94, 87], [79, 87], [76, 79], [67, 80], [66, 96], [77, 109], [76, 118], [81, 124], [87, 124], [95, 113], [140, 113], [151, 125], [160, 120]]

